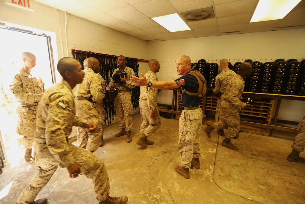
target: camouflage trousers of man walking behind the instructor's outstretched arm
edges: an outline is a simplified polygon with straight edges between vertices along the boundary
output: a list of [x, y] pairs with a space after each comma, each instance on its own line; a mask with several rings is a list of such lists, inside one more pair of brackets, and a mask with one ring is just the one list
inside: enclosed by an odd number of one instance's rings
[[150, 118], [150, 111], [148, 109], [147, 100], [140, 99], [140, 112], [141, 112], [141, 124], [140, 124], [140, 132], [141, 134], [145, 134], [146, 137], [150, 136], [152, 133], [156, 132], [156, 130], [160, 127], [160, 114], [155, 108], [155, 117]]

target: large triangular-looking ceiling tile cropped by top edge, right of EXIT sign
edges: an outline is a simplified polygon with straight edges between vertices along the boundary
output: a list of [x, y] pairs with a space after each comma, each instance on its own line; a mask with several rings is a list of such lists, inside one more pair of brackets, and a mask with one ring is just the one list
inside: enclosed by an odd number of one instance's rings
[[[62, 1], [62, 2], [65, 2], [65, 1]], [[102, 1], [101, 0], [79, 0], [79, 1], [82, 1], [90, 6], [93, 6], [94, 8], [99, 9], [105, 13], [130, 6], [124, 0], [115, 0], [115, 1], [113, 1], [113, 0], [102, 0]], [[74, 0], [74, 2], [76, 2], [76, 1]]]

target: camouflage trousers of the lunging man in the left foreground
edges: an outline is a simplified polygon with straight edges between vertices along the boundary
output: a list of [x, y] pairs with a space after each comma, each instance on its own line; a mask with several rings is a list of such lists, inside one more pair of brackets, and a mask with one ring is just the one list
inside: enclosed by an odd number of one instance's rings
[[[104, 201], [109, 195], [110, 188], [104, 162], [87, 150], [76, 146], [71, 148], [78, 148], [78, 154], [75, 155], [75, 162], [81, 166], [81, 175], [85, 175], [92, 180], [95, 193], [97, 194], [97, 201]], [[48, 183], [58, 167], [58, 165], [50, 162], [48, 158], [36, 160], [36, 165], [40, 167], [40, 169], [38, 169], [38, 172], [32, 178], [30, 184], [18, 197], [17, 201], [20, 204], [33, 202], [39, 191]], [[66, 176], [69, 176], [68, 171], [66, 172]]]

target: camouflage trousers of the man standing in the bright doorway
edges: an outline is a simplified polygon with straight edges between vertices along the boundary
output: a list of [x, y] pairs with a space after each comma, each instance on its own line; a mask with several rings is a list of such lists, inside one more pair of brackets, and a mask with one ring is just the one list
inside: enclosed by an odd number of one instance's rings
[[35, 146], [36, 108], [37, 106], [18, 106], [17, 108], [19, 121], [16, 132], [23, 136], [22, 144], [27, 149]]

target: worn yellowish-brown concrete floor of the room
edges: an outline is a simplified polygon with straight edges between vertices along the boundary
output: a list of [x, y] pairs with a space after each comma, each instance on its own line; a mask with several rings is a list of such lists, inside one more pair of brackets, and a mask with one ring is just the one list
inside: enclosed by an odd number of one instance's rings
[[[134, 204], [204, 203], [305, 203], [305, 163], [286, 160], [296, 133], [275, 132], [275, 137], [240, 133], [234, 151], [221, 146], [223, 137], [216, 131], [208, 139], [203, 132], [201, 169], [190, 169], [185, 179], [174, 170], [180, 165], [177, 150], [178, 120], [161, 118], [161, 127], [149, 139], [154, 145], [141, 149], [135, 143], [140, 136], [140, 114], [132, 116], [133, 140], [113, 135], [117, 123], [105, 128], [105, 145], [95, 154], [106, 165], [110, 195], [127, 195]], [[11, 149], [11, 150], [10, 150]], [[16, 203], [38, 167], [23, 160], [24, 150], [6, 149], [14, 160], [0, 174], [0, 203]], [[305, 153], [301, 153], [305, 157]], [[48, 203], [97, 203], [91, 181], [85, 176], [70, 179], [66, 169], [58, 168], [37, 198]]]

